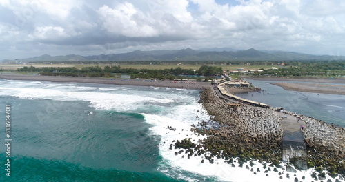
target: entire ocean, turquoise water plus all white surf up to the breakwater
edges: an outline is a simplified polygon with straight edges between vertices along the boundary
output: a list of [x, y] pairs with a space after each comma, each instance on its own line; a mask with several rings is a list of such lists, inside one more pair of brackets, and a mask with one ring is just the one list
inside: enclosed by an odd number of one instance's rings
[[[255, 174], [223, 159], [201, 163], [204, 156], [187, 159], [169, 149], [177, 140], [198, 143], [206, 137], [190, 131], [190, 125], [210, 119], [198, 97], [199, 90], [0, 79], [0, 181], [280, 180], [277, 172]], [[255, 170], [262, 168], [254, 163]], [[311, 181], [310, 172], [295, 174]]]

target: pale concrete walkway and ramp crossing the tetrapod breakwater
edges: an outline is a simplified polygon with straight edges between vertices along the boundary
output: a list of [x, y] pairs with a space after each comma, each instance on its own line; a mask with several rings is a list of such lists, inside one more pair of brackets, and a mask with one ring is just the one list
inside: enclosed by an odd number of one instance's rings
[[[230, 103], [248, 103], [248, 105], [259, 106], [262, 108], [270, 109], [269, 105], [264, 103], [257, 103], [248, 99], [242, 99], [235, 97], [233, 94], [228, 93], [222, 85], [213, 86], [215, 92], [219, 98], [230, 101]], [[230, 97], [229, 97], [230, 96]], [[232, 98], [235, 97], [235, 99]], [[246, 101], [243, 102], [242, 100]], [[283, 139], [282, 139], [282, 160], [285, 162], [291, 162], [295, 167], [301, 170], [307, 170], [307, 153], [306, 145], [304, 143], [304, 136], [302, 134], [301, 126], [305, 125], [303, 121], [297, 119], [297, 115], [291, 112], [277, 112], [281, 118], [279, 124], [283, 128]]]

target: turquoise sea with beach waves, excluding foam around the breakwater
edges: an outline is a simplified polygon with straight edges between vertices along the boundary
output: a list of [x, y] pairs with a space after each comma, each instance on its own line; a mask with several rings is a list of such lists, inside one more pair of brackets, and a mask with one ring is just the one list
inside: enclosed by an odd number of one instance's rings
[[[11, 105], [13, 139], [12, 175], [1, 169], [0, 181], [178, 179], [159, 170], [159, 136], [150, 134], [140, 113], [195, 104], [197, 91], [168, 94], [165, 88], [4, 80], [0, 87], [0, 114]], [[150, 92], [156, 96], [148, 97]], [[184, 101], [177, 97], [180, 92]], [[2, 118], [0, 136], [5, 139]], [[4, 151], [1, 145], [1, 166], [7, 159]]]

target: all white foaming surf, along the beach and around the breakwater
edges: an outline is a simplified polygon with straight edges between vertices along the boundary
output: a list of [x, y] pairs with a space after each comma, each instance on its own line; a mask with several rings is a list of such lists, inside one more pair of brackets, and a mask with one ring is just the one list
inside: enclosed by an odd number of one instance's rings
[[[84, 84], [85, 85], [85, 84]], [[87, 84], [86, 84], [87, 85]], [[262, 164], [254, 161], [254, 172], [246, 169], [249, 163], [244, 163], [244, 167], [233, 168], [224, 159], [214, 159], [210, 164], [204, 156], [191, 156], [186, 154], [175, 155], [181, 149], [169, 149], [173, 140], [181, 141], [190, 138], [193, 143], [205, 139], [206, 136], [197, 136], [190, 131], [191, 125], [197, 125], [201, 120], [208, 120], [210, 116], [203, 106], [197, 103], [195, 92], [184, 89], [172, 88], [152, 88], [152, 90], [141, 90], [140, 88], [125, 88], [114, 85], [114, 88], [98, 88], [91, 86], [79, 86], [74, 83], [49, 83], [37, 81], [0, 81], [0, 96], [19, 97], [21, 99], [52, 99], [57, 101], [88, 101], [91, 107], [99, 110], [116, 110], [118, 112], [135, 112], [139, 108], [147, 108], [148, 105], [162, 104], [162, 110], [158, 112], [141, 113], [146, 123], [150, 124], [150, 134], [159, 136], [159, 154], [164, 163], [159, 166], [159, 170], [167, 175], [176, 175], [188, 181], [194, 181], [193, 176], [184, 176], [184, 172], [190, 172], [196, 176], [208, 176], [217, 181], [294, 181], [297, 175], [299, 181], [313, 181], [311, 179], [312, 170], [297, 171], [297, 173], [282, 172], [284, 178], [279, 179], [278, 172], [268, 172], [266, 176]], [[153, 91], [155, 90], [155, 91]], [[168, 105], [167, 105], [168, 104]], [[171, 105], [169, 105], [171, 104]], [[198, 112], [199, 111], [199, 112]], [[174, 130], [168, 129], [168, 126]], [[181, 156], [184, 155], [184, 158]], [[204, 159], [205, 163], [201, 163]], [[282, 163], [282, 165], [284, 165]], [[260, 172], [256, 169], [260, 168]], [[272, 168], [273, 170], [273, 168]], [[286, 173], [290, 174], [290, 179], [286, 179]], [[305, 179], [302, 180], [302, 176]], [[328, 178], [329, 176], [326, 175]]]

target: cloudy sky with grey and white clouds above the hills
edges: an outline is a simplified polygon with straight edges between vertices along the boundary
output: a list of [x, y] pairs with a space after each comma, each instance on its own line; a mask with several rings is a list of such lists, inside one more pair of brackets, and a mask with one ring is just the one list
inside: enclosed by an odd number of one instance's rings
[[235, 48], [345, 55], [342, 0], [0, 0], [0, 60]]

